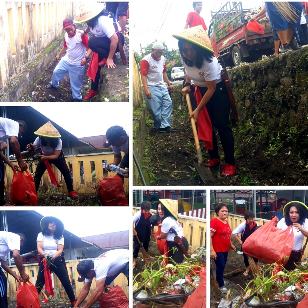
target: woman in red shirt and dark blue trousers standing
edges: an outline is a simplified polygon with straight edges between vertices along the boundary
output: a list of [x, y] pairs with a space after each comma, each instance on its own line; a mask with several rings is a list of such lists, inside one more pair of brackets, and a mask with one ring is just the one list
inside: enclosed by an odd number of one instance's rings
[[216, 280], [220, 287], [221, 293], [227, 293], [228, 289], [224, 286], [224, 268], [227, 263], [229, 247], [236, 251], [231, 242], [231, 228], [227, 218], [229, 211], [226, 205], [219, 203], [215, 212], [217, 217], [211, 220], [211, 258], [216, 264]]

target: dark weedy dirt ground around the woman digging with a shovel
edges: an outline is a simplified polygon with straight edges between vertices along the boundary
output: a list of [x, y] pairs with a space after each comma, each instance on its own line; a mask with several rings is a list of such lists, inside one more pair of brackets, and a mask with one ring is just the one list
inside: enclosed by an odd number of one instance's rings
[[[289, 148], [281, 148], [276, 156], [265, 157], [260, 144], [239, 137], [238, 127], [232, 122], [235, 145], [236, 174], [221, 177], [221, 168], [212, 168], [214, 182], [203, 183], [195, 170], [196, 156], [191, 123], [187, 108], [184, 112], [174, 109], [171, 123], [175, 133], [152, 133], [152, 119], [149, 115], [148, 140], [146, 140], [142, 169], [150, 174], [151, 185], [307, 185], [308, 159], [299, 159], [298, 153]], [[216, 131], [219, 153], [224, 163], [224, 152]], [[248, 136], [249, 137], [249, 136]], [[203, 161], [209, 158], [200, 141]], [[249, 142], [249, 143], [248, 143]]]

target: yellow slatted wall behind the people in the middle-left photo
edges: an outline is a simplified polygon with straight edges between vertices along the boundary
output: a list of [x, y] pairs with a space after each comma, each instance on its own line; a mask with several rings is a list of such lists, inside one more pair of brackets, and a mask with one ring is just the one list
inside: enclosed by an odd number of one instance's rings
[[[68, 165], [68, 168], [69, 168], [69, 162], [72, 162], [73, 180], [74, 180], [73, 188], [77, 194], [78, 193], [96, 194], [96, 191], [92, 187], [98, 185], [101, 182], [102, 178], [116, 175], [116, 172], [113, 172], [113, 171], [105, 172], [103, 174], [102, 161], [107, 160], [107, 164], [112, 164], [113, 163], [113, 153], [112, 152], [111, 153], [108, 152], [108, 153], [93, 153], [93, 154], [80, 154], [80, 155], [65, 156], [65, 160]], [[84, 165], [84, 184], [81, 184], [82, 177], [80, 177], [80, 167], [79, 167], [80, 161], [83, 161], [83, 165]], [[95, 162], [96, 183], [92, 183], [90, 161]], [[14, 164], [17, 164], [16, 161], [14, 160], [12, 160], [12, 162]], [[67, 190], [64, 178], [63, 178], [63, 181], [59, 182], [59, 170], [53, 164], [51, 165], [51, 167], [52, 167], [53, 172], [55, 173], [55, 177], [58, 180], [58, 183], [62, 185], [62, 187], [59, 187], [59, 192], [67, 193], [68, 190]], [[35, 169], [36, 169], [36, 165], [33, 166], [33, 172], [32, 172], [33, 175], [35, 173]], [[7, 194], [9, 194], [10, 183], [12, 183], [12, 178], [13, 178], [13, 170], [8, 166], [6, 166], [6, 177], [7, 177], [6, 183], [8, 183], [6, 192]], [[128, 181], [129, 181], [128, 178], [124, 179], [124, 190], [126, 194], [128, 194], [129, 192]], [[39, 192], [46, 192], [49, 185], [50, 185], [50, 178], [46, 170], [43, 175], [43, 185], [40, 185]]]

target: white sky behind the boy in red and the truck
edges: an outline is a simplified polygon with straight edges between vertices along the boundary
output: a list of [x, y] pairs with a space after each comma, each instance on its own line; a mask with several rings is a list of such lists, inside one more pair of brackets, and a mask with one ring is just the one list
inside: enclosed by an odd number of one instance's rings
[[[146, 47], [157, 39], [165, 41], [171, 50], [178, 49], [178, 40], [172, 34], [184, 29], [187, 14], [193, 11], [193, 1], [155, 1], [153, 6], [148, 1], [132, 1], [129, 3], [130, 43], [134, 51], [140, 54], [140, 43]], [[211, 10], [217, 11], [227, 1], [203, 1], [200, 16], [207, 28], [211, 21]], [[232, 2], [231, 2], [232, 3]], [[243, 9], [262, 6], [262, 1], [242, 1]]]

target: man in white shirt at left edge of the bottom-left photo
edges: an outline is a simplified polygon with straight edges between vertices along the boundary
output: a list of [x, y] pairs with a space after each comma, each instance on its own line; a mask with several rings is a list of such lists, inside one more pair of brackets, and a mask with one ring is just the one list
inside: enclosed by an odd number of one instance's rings
[[[23, 246], [25, 241], [25, 236], [23, 233], [12, 233], [6, 231], [0, 231], [0, 261], [1, 261], [1, 308], [7, 308], [7, 278], [3, 273], [4, 269], [8, 274], [12, 275], [18, 282], [27, 282], [29, 281], [29, 275], [27, 275], [23, 268], [23, 260], [20, 256], [20, 246]], [[13, 252], [13, 259], [15, 265], [19, 271], [19, 275], [15, 274], [11, 268], [6, 264], [6, 255]]]

